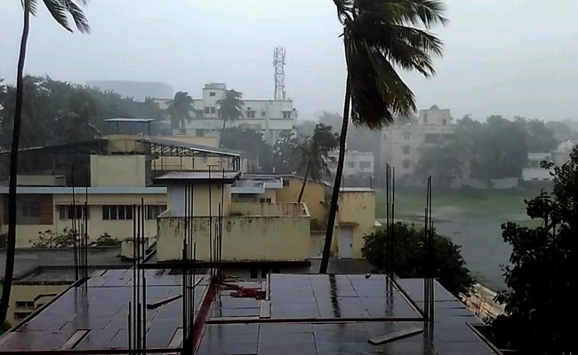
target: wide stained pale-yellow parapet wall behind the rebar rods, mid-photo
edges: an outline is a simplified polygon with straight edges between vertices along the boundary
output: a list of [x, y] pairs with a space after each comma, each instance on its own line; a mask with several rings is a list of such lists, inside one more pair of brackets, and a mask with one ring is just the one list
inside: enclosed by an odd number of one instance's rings
[[[158, 261], [181, 259], [185, 219], [158, 218]], [[197, 243], [197, 260], [209, 261], [208, 217], [194, 218], [193, 234]], [[309, 217], [223, 218], [224, 262], [308, 260], [309, 253]]]

